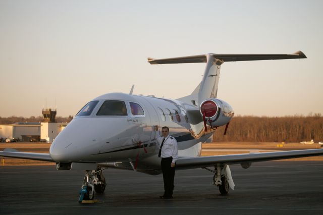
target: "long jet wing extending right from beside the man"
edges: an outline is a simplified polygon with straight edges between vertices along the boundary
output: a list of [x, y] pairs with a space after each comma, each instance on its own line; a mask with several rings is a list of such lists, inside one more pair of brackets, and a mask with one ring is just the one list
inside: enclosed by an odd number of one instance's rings
[[263, 162], [268, 160], [289, 159], [296, 157], [308, 157], [323, 155], [323, 149], [307, 149], [293, 151], [262, 152], [250, 154], [229, 154], [218, 156], [202, 157], [181, 157], [176, 161], [176, 169], [194, 169], [204, 167], [214, 167], [218, 164], [251, 164], [253, 162]]

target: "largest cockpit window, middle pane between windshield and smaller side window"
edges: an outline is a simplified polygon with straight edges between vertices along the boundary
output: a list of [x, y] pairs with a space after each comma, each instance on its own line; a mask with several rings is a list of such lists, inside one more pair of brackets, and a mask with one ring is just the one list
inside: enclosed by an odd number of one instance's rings
[[96, 116], [127, 116], [124, 101], [104, 101]]

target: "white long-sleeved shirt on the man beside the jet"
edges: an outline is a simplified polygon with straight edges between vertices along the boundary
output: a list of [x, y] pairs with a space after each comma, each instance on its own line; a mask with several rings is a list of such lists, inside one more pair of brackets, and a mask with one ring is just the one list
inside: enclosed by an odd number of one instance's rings
[[[159, 142], [159, 148], [161, 143], [163, 142], [164, 137], [160, 136], [158, 132], [156, 132], [156, 139]], [[158, 148], [158, 151], [159, 151]], [[161, 148], [160, 157], [173, 157], [172, 163], [175, 163], [178, 157], [178, 149], [177, 149], [177, 141], [171, 135], [165, 137], [163, 148]]]

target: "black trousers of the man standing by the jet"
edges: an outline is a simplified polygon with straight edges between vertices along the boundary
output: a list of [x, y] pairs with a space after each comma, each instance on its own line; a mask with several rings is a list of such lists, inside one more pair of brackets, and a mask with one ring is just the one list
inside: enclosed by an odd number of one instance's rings
[[161, 171], [164, 178], [164, 196], [172, 196], [174, 190], [175, 167], [171, 167], [173, 158], [161, 158]]

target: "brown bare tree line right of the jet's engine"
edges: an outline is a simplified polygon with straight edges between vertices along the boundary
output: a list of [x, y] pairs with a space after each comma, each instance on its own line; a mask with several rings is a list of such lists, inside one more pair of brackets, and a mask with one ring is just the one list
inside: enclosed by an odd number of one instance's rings
[[323, 141], [323, 117], [320, 114], [286, 117], [234, 117], [224, 134], [224, 126], [213, 136], [214, 142], [300, 142]]

